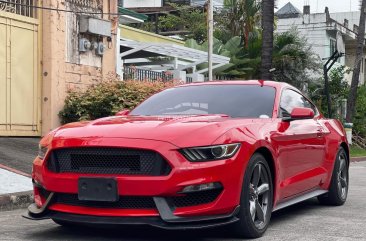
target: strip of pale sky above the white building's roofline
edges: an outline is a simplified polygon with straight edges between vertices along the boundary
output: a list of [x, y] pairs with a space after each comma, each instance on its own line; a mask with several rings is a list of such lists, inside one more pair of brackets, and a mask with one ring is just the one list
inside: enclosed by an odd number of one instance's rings
[[[278, 9], [288, 2], [291, 2], [301, 12], [304, 5], [310, 5], [311, 13], [324, 12], [325, 7], [329, 8], [330, 13], [359, 11], [360, 9], [360, 0], [277, 0]], [[275, 12], [278, 9], [275, 9]]]

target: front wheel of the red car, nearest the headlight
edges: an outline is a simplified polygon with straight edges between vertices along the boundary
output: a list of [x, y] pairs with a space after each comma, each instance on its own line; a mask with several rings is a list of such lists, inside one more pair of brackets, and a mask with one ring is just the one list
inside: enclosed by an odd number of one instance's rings
[[[255, 173], [258, 172], [260, 180], [256, 181], [257, 175]], [[264, 184], [268, 185], [268, 190], [263, 192]], [[261, 208], [258, 208], [258, 204]], [[235, 234], [240, 238], [261, 237], [267, 230], [272, 208], [273, 183], [270, 168], [264, 156], [255, 153], [250, 158], [244, 174], [238, 214], [239, 221], [233, 225]]]

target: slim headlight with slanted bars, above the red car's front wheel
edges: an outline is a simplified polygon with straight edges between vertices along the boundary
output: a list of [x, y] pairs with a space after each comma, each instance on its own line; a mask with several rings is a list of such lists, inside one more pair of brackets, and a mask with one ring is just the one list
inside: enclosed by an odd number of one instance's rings
[[215, 145], [205, 147], [191, 147], [181, 149], [180, 152], [191, 162], [204, 162], [227, 159], [235, 155], [240, 144]]

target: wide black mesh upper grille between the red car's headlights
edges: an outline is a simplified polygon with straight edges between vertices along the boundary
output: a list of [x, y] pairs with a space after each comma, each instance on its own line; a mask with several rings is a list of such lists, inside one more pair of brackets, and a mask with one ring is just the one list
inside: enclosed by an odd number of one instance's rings
[[65, 148], [52, 151], [47, 162], [57, 173], [163, 176], [171, 171], [157, 152], [127, 148]]

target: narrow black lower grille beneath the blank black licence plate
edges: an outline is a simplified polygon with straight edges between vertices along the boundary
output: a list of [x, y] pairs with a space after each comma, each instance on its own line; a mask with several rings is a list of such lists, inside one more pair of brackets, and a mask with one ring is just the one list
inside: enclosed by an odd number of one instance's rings
[[55, 203], [92, 208], [155, 209], [152, 197], [120, 196], [117, 202], [81, 201], [77, 194], [56, 193]]

